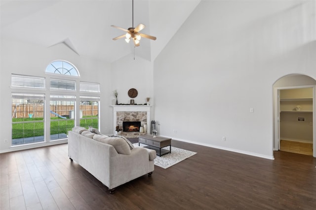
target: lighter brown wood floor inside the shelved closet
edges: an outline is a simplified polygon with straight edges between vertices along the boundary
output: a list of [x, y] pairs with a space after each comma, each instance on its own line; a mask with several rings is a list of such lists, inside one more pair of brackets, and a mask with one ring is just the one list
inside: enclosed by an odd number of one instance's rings
[[313, 155], [313, 143], [281, 140], [280, 150], [294, 152], [298, 154]]

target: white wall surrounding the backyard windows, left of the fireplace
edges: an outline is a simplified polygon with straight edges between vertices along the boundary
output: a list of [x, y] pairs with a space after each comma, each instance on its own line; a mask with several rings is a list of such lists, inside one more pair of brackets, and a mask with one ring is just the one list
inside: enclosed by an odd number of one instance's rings
[[[101, 89], [101, 131], [110, 132], [112, 122], [111, 109], [109, 107], [111, 97], [111, 72], [110, 64], [98, 60], [84, 58], [63, 44], [53, 47], [35, 46], [16, 40], [1, 38], [1, 66], [0, 66], [0, 87], [1, 87], [1, 126], [0, 126], [0, 152], [13, 150], [11, 142], [11, 92], [18, 90], [11, 89], [11, 74], [23, 74], [45, 77], [46, 66], [53, 60], [67, 60], [73, 63], [80, 72], [80, 81], [100, 83]], [[8, 143], [4, 143], [4, 139]], [[20, 147], [20, 148], [23, 148]], [[16, 148], [15, 148], [16, 149]]]

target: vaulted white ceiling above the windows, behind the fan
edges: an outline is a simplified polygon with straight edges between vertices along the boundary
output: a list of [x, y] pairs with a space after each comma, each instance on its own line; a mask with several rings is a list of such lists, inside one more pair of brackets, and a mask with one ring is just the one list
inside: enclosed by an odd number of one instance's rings
[[[146, 26], [135, 55], [155, 60], [200, 0], [134, 0], [134, 27]], [[132, 0], [0, 0], [0, 35], [44, 47], [65, 43], [79, 56], [113, 62], [134, 52], [112, 38], [132, 27]], [[193, 32], [193, 31], [190, 31]], [[184, 43], [185, 45], [185, 43]]]

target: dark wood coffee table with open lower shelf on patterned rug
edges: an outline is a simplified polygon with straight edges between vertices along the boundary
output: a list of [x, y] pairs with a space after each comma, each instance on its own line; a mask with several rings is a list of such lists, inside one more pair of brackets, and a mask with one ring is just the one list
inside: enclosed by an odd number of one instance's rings
[[[156, 150], [159, 157], [164, 154], [171, 153], [171, 138], [165, 138], [160, 136], [152, 135], [141, 135], [138, 137], [138, 146], [140, 143], [147, 145], [145, 148]], [[161, 148], [169, 146], [169, 150], [164, 150]]]

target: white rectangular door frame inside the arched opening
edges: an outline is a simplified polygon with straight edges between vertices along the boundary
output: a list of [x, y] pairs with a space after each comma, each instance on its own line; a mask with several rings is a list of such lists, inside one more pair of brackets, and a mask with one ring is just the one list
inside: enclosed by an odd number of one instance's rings
[[284, 89], [300, 89], [300, 88], [313, 88], [313, 156], [316, 157], [316, 141], [315, 141], [315, 98], [316, 98], [316, 85], [307, 85], [307, 86], [291, 86], [291, 87], [277, 87], [274, 90], [274, 124], [275, 124], [275, 144], [274, 150], [279, 150], [280, 146], [280, 122], [279, 122], [279, 105], [280, 98], [279, 92]]

